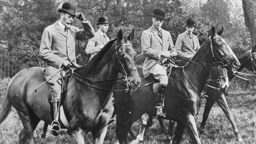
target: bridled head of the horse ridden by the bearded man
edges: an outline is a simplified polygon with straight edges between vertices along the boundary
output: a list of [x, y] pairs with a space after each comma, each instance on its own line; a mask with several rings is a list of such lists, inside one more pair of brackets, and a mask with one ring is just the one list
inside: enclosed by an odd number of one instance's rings
[[116, 59], [124, 67], [125, 71], [120, 68], [120, 73], [127, 74], [128, 84], [136, 90], [140, 86], [140, 76], [136, 67], [137, 53], [131, 42], [134, 39], [134, 30], [131, 31], [127, 39], [123, 39], [122, 30], [116, 34]]

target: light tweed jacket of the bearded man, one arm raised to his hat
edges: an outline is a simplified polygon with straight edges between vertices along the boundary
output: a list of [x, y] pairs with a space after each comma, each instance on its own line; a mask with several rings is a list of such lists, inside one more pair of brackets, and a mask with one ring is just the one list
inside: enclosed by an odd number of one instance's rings
[[[67, 32], [61, 28], [58, 21], [49, 25], [44, 29], [39, 53], [41, 58], [47, 63], [46, 76], [50, 73], [57, 72], [61, 68], [63, 61], [70, 62], [76, 58], [75, 45], [76, 40], [88, 40], [94, 37], [94, 30], [90, 22], [82, 22], [84, 29], [79, 29], [75, 26], [67, 28]], [[76, 60], [72, 62], [76, 64]]]

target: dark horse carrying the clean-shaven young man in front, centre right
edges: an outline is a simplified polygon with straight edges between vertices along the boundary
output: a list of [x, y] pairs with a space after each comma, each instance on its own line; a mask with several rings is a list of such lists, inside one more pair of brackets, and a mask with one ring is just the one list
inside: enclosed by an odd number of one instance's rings
[[[188, 130], [192, 143], [200, 144], [195, 117], [200, 106], [201, 90], [209, 77], [211, 64], [224, 63], [224, 67], [235, 72], [240, 63], [227, 42], [221, 38], [223, 28], [215, 35], [215, 28], [212, 27], [210, 37], [201, 46], [192, 62], [184, 67], [172, 68], [169, 77], [169, 86], [166, 90], [164, 106], [167, 119], [178, 121], [182, 124], [180, 129]], [[195, 62], [207, 63], [206, 65]], [[134, 121], [137, 121], [144, 113], [156, 115], [155, 103], [157, 96], [153, 92], [152, 85], [144, 86], [145, 79], [142, 78], [142, 85], [136, 91], [130, 91], [130, 95], [122, 92], [114, 92], [116, 100], [116, 135], [120, 144], [128, 142], [128, 130]], [[121, 87], [121, 86], [120, 86]], [[115, 86], [116, 89], [120, 88]], [[131, 113], [130, 113], [131, 112]]]

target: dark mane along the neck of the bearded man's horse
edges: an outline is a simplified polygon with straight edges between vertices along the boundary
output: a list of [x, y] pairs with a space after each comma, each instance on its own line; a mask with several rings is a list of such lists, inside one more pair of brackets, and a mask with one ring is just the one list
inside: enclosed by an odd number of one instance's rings
[[[86, 75], [90, 69], [92, 69], [93, 67], [95, 67], [96, 63], [99, 62], [99, 60], [102, 58], [102, 56], [104, 56], [107, 51], [109, 50], [109, 48], [111, 48], [111, 45], [113, 45], [113, 43], [116, 42], [116, 39], [110, 40], [103, 48], [101, 51], [99, 51], [98, 54], [96, 54], [95, 56], [93, 56], [93, 58], [87, 63], [87, 65], [84, 65], [80, 68], [77, 68], [75, 70], [76, 73], [84, 76]], [[114, 48], [114, 47], [113, 47]]]

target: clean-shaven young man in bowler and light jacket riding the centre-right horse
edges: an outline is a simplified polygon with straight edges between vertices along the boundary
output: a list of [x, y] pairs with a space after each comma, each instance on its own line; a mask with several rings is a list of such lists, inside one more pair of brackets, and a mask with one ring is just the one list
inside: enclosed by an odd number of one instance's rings
[[[171, 34], [161, 28], [166, 12], [157, 8], [154, 10], [152, 16], [153, 25], [142, 33], [141, 48], [142, 53], [146, 56], [145, 62], [143, 64], [143, 75], [148, 77], [150, 74], [160, 81], [158, 88], [158, 100], [156, 104], [157, 117], [165, 118], [166, 113], [163, 107], [163, 98], [168, 85], [168, 76], [166, 74], [166, 67], [160, 64], [154, 65], [151, 69], [151, 65], [157, 62], [161, 57], [171, 58], [171, 56], [176, 56], [177, 52], [174, 48]], [[170, 52], [170, 51], [173, 52]]]

